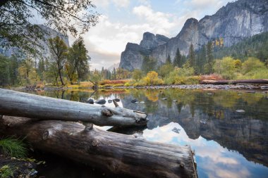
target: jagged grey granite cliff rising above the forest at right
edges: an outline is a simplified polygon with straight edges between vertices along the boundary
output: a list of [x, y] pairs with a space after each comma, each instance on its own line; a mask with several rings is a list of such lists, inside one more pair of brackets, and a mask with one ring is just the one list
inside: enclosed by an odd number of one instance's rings
[[119, 66], [128, 70], [140, 69], [144, 56], [152, 56], [157, 59], [157, 65], [162, 65], [169, 55], [173, 61], [176, 49], [187, 55], [190, 44], [200, 49], [203, 44], [220, 38], [224, 39], [224, 46], [232, 46], [242, 39], [267, 32], [267, 19], [267, 0], [238, 0], [199, 21], [189, 18], [181, 32], [171, 39], [145, 32], [140, 44], [126, 45]]

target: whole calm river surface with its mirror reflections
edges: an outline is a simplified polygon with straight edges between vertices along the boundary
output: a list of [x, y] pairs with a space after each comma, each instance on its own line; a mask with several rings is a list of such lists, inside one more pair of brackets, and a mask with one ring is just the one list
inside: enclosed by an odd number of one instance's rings
[[[268, 94], [263, 91], [117, 89], [34, 93], [80, 102], [90, 97], [120, 98], [120, 106], [148, 113], [150, 121], [146, 129], [115, 132], [138, 132], [150, 141], [190, 145], [199, 177], [268, 177]], [[131, 103], [134, 98], [144, 103]], [[114, 107], [112, 103], [106, 106]], [[114, 131], [110, 127], [102, 129]], [[43, 159], [48, 165], [39, 171], [40, 175], [94, 177], [84, 165], [46, 156]], [[109, 176], [101, 172], [95, 177]]]

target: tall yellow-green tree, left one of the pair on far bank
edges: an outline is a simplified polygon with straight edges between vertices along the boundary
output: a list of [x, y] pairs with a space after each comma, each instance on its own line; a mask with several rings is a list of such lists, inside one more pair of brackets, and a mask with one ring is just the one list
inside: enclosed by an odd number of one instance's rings
[[49, 39], [49, 48], [51, 51], [51, 61], [55, 62], [61, 85], [63, 82], [63, 67], [66, 63], [68, 47], [60, 37]]

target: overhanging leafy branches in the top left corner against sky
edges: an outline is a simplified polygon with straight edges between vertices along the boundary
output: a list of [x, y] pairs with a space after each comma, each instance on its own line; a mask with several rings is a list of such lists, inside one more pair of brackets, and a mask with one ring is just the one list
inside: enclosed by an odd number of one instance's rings
[[95, 8], [91, 1], [41, 1], [41, 0], [4, 0], [0, 2], [0, 39], [1, 46], [16, 46], [23, 53], [39, 53], [40, 39], [44, 32], [32, 18], [43, 18], [48, 27], [67, 35], [76, 36], [87, 32], [98, 22], [99, 14], [92, 13]]

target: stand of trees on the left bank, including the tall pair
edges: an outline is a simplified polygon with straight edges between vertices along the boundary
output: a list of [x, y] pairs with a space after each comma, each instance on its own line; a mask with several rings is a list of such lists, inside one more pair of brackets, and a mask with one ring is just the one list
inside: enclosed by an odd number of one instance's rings
[[[0, 85], [28, 85], [49, 83], [65, 85], [67, 82], [87, 80], [90, 73], [87, 49], [84, 40], [79, 37], [68, 48], [60, 37], [49, 39], [51, 56], [48, 58], [18, 58], [0, 56]], [[35, 61], [35, 62], [34, 62]]]

